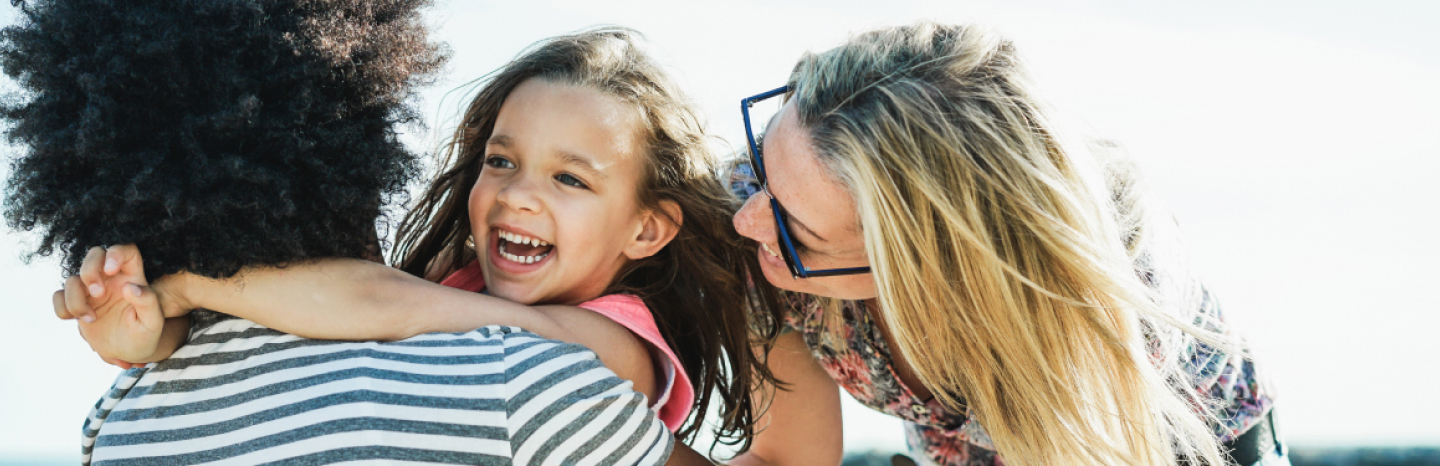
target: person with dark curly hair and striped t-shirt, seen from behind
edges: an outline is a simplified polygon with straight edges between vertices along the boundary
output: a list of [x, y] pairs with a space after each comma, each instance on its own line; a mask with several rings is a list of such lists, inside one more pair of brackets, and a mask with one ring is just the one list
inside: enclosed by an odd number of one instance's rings
[[[26, 91], [0, 108], [24, 148], [6, 219], [72, 275], [94, 245], [147, 262], [117, 275], [140, 283], [96, 283], [111, 292], [81, 332], [134, 328], [115, 321], [150, 315], [137, 298], [161, 276], [376, 257], [382, 206], [416, 173], [395, 128], [444, 62], [426, 3], [24, 3], [0, 32]], [[645, 396], [595, 352], [521, 328], [353, 342], [193, 321], [135, 322], [189, 344], [117, 378], [85, 423], [85, 463], [697, 460], [671, 454]]]

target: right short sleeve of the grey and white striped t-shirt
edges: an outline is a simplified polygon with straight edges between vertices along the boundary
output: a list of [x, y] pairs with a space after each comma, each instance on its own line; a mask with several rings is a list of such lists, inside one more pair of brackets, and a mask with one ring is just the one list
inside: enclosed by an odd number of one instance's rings
[[514, 329], [505, 394], [514, 465], [664, 465], [674, 437], [590, 350]]

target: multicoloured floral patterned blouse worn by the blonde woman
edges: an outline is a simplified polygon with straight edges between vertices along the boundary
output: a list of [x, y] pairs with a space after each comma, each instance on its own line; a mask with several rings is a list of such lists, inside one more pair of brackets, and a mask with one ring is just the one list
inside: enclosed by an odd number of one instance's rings
[[[759, 191], [749, 165], [732, 168], [730, 188], [742, 198]], [[985, 429], [971, 413], [946, 408], [935, 398], [920, 400], [900, 381], [890, 347], [880, 326], [865, 312], [860, 301], [841, 306], [842, 341], [827, 337], [824, 306], [819, 301], [799, 293], [786, 293], [788, 331], [802, 334], [816, 361], [855, 400], [877, 411], [904, 420], [906, 443], [922, 463], [932, 465], [1004, 465], [995, 453]], [[1204, 293], [1202, 314], [1221, 316], [1220, 306]], [[1250, 358], [1231, 357], [1208, 345], [1197, 344], [1188, 370], [1197, 375], [1197, 388], [1217, 403], [1215, 434], [1228, 442], [1263, 420], [1270, 410], [1267, 388], [1257, 380]]]

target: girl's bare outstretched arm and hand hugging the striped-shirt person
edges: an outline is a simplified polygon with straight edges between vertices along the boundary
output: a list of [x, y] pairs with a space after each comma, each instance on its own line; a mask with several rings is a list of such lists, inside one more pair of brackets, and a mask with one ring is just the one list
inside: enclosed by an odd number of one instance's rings
[[[140, 253], [130, 245], [88, 256], [82, 279], [66, 282], [62, 292], [65, 312], [72, 316], [99, 315], [91, 311], [95, 302], [122, 292], [121, 286], [109, 283], [114, 278], [138, 273], [143, 280], [138, 263]], [[102, 285], [99, 296], [91, 286], [94, 283]], [[284, 269], [248, 268], [219, 280], [177, 273], [138, 288], [141, 296], [137, 299], [158, 301], [166, 318], [197, 308], [213, 309], [314, 339], [393, 341], [428, 332], [468, 332], [485, 325], [520, 326], [544, 338], [590, 348], [602, 364], [634, 383], [635, 391], [651, 398], [657, 396], [655, 370], [647, 344], [603, 315], [575, 306], [520, 305], [426, 282], [369, 260], [320, 259]], [[60, 312], [56, 303], [56, 314]], [[104, 322], [101, 318], [91, 325]], [[120, 324], [124, 322], [115, 325]], [[151, 338], [160, 339], [161, 345], [154, 354], [168, 355], [179, 347], [179, 342], [163, 338], [160, 325], [148, 328], [156, 329]], [[91, 345], [94, 348], [96, 342], [91, 341]], [[101, 348], [96, 352], [107, 357]]]

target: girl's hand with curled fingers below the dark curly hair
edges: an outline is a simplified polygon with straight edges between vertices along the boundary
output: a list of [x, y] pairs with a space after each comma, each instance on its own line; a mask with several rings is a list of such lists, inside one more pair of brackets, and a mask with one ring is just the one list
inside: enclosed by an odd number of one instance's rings
[[132, 245], [92, 247], [79, 275], [56, 292], [55, 314], [81, 319], [91, 350], [120, 367], [151, 361], [166, 321]]

